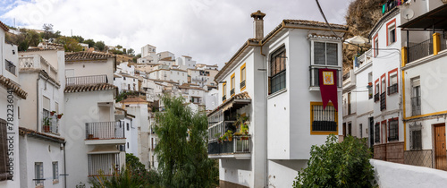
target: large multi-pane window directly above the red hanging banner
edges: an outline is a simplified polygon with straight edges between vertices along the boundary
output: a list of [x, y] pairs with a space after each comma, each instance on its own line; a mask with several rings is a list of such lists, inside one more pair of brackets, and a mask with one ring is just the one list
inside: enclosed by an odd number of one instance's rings
[[314, 64], [338, 65], [338, 45], [336, 43], [314, 41]]

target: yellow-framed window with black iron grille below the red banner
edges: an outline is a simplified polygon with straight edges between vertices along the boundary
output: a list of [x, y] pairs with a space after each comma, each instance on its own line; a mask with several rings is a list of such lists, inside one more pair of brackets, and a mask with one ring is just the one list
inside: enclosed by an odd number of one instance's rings
[[310, 134], [338, 133], [338, 113], [329, 103], [323, 109], [322, 102], [310, 103]]

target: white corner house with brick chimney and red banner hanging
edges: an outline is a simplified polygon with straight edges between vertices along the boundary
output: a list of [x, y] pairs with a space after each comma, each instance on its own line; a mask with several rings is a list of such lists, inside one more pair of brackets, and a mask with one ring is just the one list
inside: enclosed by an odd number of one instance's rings
[[[264, 37], [265, 14], [251, 16], [255, 38], [215, 76], [221, 104], [208, 114], [208, 157], [219, 158], [220, 187], [291, 187], [307, 166], [311, 146], [341, 134], [342, 113], [332, 103], [323, 109], [318, 71], [332, 69], [325, 81], [337, 88], [342, 111], [347, 26], [331, 24], [338, 36], [333, 37], [324, 22], [284, 20]], [[239, 116], [248, 117], [248, 135], [245, 126], [234, 124]], [[218, 143], [227, 130], [242, 135]]]

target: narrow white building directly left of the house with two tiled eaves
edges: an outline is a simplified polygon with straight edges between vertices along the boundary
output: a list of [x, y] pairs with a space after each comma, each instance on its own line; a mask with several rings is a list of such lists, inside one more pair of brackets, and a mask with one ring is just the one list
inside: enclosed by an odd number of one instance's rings
[[64, 51], [27, 50], [19, 62], [21, 86], [33, 96], [21, 101], [21, 187], [63, 187]]

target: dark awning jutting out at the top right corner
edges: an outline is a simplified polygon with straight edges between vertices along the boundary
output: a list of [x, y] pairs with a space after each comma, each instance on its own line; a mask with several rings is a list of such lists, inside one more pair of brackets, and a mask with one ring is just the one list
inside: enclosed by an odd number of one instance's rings
[[428, 13], [424, 13], [399, 27], [402, 30], [446, 30], [447, 4], [443, 4]]

